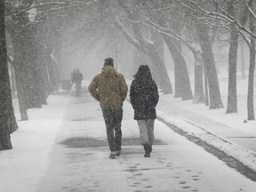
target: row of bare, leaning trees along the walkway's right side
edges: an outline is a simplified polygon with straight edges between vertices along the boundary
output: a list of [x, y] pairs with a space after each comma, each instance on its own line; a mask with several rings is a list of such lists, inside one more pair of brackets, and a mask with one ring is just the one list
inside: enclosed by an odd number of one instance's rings
[[[238, 42], [247, 43], [250, 49], [247, 118], [254, 120], [256, 14], [252, 0], [112, 0], [96, 2], [90, 6], [97, 13], [85, 12], [83, 16], [84, 18], [93, 17], [92, 20], [96, 21], [92, 26], [90, 25], [90, 28], [85, 27], [84, 38], [92, 37], [87, 34], [90, 30], [93, 30], [93, 35], [97, 34], [98, 38], [106, 38], [106, 35], [101, 36], [101, 34], [107, 33], [108, 39], [111, 40], [115, 39], [111, 37], [113, 34], [117, 36], [116, 33], [118, 33], [120, 36], [121, 33], [122, 40], [118, 39], [119, 46], [122, 46], [124, 41], [132, 44], [136, 50], [137, 59], [139, 57], [140, 61], [150, 63], [154, 71], [153, 75], [162, 91], [172, 93], [172, 84], [165, 69], [168, 63], [164, 64], [163, 57], [163, 45], [166, 44], [174, 62], [174, 97], [182, 100], [194, 99], [194, 103], [203, 102], [210, 108], [224, 108], [212, 46], [220, 44], [218, 36], [225, 37], [226, 43], [229, 44], [227, 113], [237, 112]], [[86, 24], [87, 22], [84, 22], [84, 26]], [[104, 32], [101, 30], [102, 26]], [[113, 28], [116, 27], [119, 31], [113, 33]], [[181, 49], [184, 45], [191, 51], [195, 60], [194, 97], [191, 92], [187, 63]]]

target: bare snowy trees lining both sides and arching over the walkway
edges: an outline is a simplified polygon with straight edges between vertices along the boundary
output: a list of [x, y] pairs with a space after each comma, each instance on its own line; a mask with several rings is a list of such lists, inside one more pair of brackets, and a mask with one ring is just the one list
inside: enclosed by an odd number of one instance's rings
[[[61, 49], [68, 46], [87, 52], [97, 44], [119, 50], [121, 57], [127, 54], [124, 46], [132, 47], [132, 63], [148, 63], [162, 92], [174, 92], [176, 98], [193, 99], [210, 108], [223, 108], [212, 50], [212, 45], [219, 43], [217, 36], [227, 37], [229, 44], [227, 113], [237, 112], [238, 41], [248, 44], [247, 108], [248, 120], [254, 120], [253, 0], [10, 0], [5, 1], [5, 11], [1, 0], [1, 11], [0, 149], [12, 148], [10, 133], [17, 129], [6, 69], [5, 33], [12, 38], [8, 47], [14, 56], [21, 120], [28, 120], [28, 108], [41, 108], [47, 104], [48, 95], [58, 91]], [[174, 63], [174, 87], [166, 70], [170, 64], [164, 63], [164, 44]], [[183, 46], [195, 60], [194, 95]]]

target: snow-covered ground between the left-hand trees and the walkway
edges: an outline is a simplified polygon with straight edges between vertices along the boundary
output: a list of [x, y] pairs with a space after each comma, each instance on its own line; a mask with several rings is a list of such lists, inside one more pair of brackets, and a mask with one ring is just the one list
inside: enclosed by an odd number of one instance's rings
[[68, 101], [67, 97], [50, 96], [48, 106], [29, 109], [29, 120], [18, 121], [19, 129], [11, 135], [12, 150], [0, 152], [0, 191], [36, 190], [49, 164]]

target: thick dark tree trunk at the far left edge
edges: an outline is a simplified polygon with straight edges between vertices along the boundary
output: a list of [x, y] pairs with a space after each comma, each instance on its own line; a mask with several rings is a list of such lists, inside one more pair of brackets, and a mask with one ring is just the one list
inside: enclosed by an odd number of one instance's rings
[[[9, 122], [13, 115], [12, 91], [7, 64], [5, 24], [4, 24], [4, 0], [0, 0], [0, 150], [11, 149]], [[16, 121], [15, 121], [16, 124]]]

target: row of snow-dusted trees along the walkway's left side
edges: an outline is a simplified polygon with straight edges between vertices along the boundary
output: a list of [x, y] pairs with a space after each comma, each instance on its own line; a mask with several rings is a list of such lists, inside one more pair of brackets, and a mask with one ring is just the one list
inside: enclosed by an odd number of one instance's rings
[[[14, 57], [10, 64], [24, 121], [28, 120], [28, 108], [47, 105], [48, 95], [60, 88], [60, 29], [68, 21], [63, 6], [68, 7], [68, 1], [1, 0], [0, 150], [12, 148], [10, 133], [18, 128], [12, 108], [5, 34], [11, 36], [8, 53]], [[63, 15], [64, 20], [60, 20]]]

